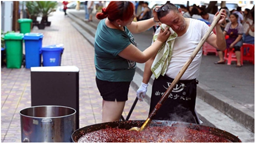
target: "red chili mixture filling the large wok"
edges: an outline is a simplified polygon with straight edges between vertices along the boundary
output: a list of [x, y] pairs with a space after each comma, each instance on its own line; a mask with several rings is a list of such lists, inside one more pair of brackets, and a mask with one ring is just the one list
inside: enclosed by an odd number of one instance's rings
[[187, 127], [148, 127], [142, 132], [107, 128], [84, 134], [78, 142], [231, 142], [205, 131]]

